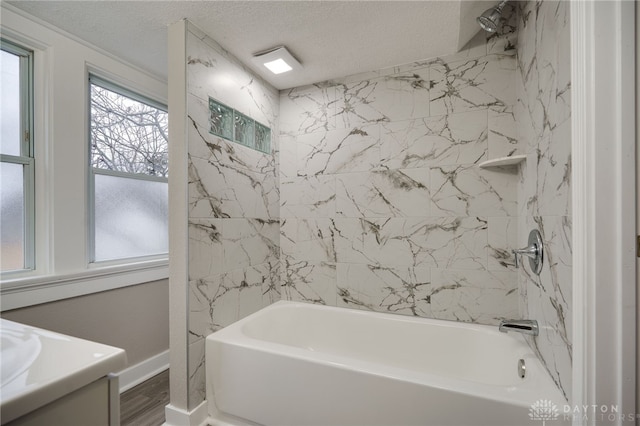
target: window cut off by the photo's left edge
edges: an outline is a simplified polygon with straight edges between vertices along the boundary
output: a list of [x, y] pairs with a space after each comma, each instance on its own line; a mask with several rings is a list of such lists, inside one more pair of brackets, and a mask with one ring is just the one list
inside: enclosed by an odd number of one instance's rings
[[34, 268], [32, 52], [0, 40], [0, 271]]

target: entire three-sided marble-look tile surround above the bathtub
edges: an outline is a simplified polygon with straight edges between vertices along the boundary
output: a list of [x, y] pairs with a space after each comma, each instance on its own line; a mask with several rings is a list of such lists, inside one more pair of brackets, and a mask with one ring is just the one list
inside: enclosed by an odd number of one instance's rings
[[[537, 319], [530, 343], [568, 396], [568, 5], [518, 7], [503, 35], [456, 55], [280, 93], [191, 27], [190, 409], [204, 400], [204, 337], [281, 298]], [[269, 126], [272, 154], [209, 134], [209, 96]], [[514, 154], [526, 163], [478, 167]], [[533, 227], [540, 277], [511, 255]]]

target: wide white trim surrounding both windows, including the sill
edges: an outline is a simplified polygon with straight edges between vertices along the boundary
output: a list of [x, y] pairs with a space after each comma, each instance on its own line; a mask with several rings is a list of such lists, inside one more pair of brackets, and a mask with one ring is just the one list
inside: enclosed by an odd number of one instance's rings
[[168, 256], [89, 262], [89, 74], [167, 103], [166, 79], [0, 3], [0, 37], [33, 51], [35, 264], [0, 274], [0, 312], [164, 280]]

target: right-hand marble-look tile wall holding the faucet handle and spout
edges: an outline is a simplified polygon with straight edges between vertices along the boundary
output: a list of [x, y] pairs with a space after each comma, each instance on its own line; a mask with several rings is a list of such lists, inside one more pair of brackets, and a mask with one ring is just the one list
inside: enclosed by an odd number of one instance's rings
[[540, 276], [518, 272], [521, 312], [538, 320], [529, 343], [571, 398], [571, 61], [570, 2], [518, 2], [515, 117], [527, 155], [518, 183], [518, 241], [537, 228], [545, 244]]

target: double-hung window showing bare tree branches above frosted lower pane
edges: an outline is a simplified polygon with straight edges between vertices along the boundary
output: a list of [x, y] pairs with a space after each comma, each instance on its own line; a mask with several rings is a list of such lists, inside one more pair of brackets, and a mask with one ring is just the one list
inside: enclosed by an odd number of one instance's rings
[[92, 262], [168, 252], [166, 107], [90, 76]]

